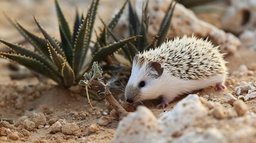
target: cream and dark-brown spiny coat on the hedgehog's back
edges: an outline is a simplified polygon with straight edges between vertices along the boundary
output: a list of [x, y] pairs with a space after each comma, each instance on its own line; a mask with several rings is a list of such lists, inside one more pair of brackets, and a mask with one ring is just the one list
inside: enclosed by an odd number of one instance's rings
[[156, 49], [138, 54], [135, 64], [161, 63], [169, 74], [180, 79], [200, 80], [227, 73], [226, 61], [218, 46], [195, 36], [175, 38]]

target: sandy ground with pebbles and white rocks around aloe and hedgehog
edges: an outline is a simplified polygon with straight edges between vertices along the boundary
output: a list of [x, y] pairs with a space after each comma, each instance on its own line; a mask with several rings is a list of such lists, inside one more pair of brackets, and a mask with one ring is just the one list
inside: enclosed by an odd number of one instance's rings
[[[76, 2], [79, 8], [86, 8], [87, 2]], [[101, 2], [100, 15], [111, 15], [113, 10], [103, 7], [104, 4], [110, 5], [113, 1]], [[35, 5], [40, 8], [36, 9]], [[65, 11], [69, 20], [75, 13], [73, 5], [69, 0], [61, 3], [65, 10], [71, 7], [72, 12]], [[58, 38], [53, 1], [1, 1], [0, 8], [36, 31], [32, 22], [32, 14], [35, 14]], [[211, 14], [197, 15], [221, 28], [221, 15], [214, 16], [215, 21], [209, 20]], [[0, 19], [0, 38], [27, 45], [1, 14]], [[5, 50], [4, 46], [1, 50]], [[0, 59], [0, 118], [15, 120], [13, 125], [0, 122], [0, 142], [132, 142], [131, 139], [141, 142], [256, 142], [255, 55], [253, 48], [241, 46], [226, 56], [229, 75], [225, 91], [216, 92], [214, 87], [202, 89], [181, 96], [164, 109], [156, 108], [158, 100], [143, 102], [143, 106], [121, 122], [105, 101], [92, 100], [94, 108], [91, 108], [84, 92], [59, 88], [50, 80], [39, 82], [24, 67], [17, 69], [16, 65]], [[24, 73], [30, 76], [11, 79]], [[128, 104], [123, 102], [122, 105], [134, 111]]]

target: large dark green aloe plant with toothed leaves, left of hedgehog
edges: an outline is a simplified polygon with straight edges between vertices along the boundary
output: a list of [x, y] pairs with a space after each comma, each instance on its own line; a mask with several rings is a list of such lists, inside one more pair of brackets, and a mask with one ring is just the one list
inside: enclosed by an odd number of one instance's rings
[[[79, 82], [85, 71], [90, 70], [94, 61], [100, 62], [106, 60], [106, 58], [113, 54], [113, 52], [137, 38], [137, 36], [132, 36], [131, 38], [116, 41], [111, 44], [107, 42], [102, 44], [100, 41], [97, 41], [95, 46], [91, 47], [91, 35], [94, 28], [99, 0], [93, 0], [91, 2], [85, 17], [83, 14], [79, 14], [78, 10], [76, 10], [73, 33], [70, 31], [69, 23], [67, 23], [67, 20], [62, 13], [58, 1], [54, 1], [61, 41], [58, 42], [53, 36], [49, 35], [35, 17], [35, 23], [42, 35], [44, 35], [44, 38], [26, 30], [20, 23], [5, 14], [10, 23], [13, 24], [21, 35], [33, 45], [35, 50], [32, 51], [23, 46], [15, 45], [1, 39], [0, 42], [11, 49], [8, 53], [0, 52], [1, 57], [15, 61], [18, 64], [26, 66], [30, 70], [49, 77], [57, 82], [58, 85], [70, 87]], [[127, 2], [125, 2], [118, 14], [116, 14], [110, 21], [107, 26], [109, 30], [112, 30], [116, 26], [116, 23], [118, 23], [126, 3]], [[104, 38], [105, 35], [109, 35], [109, 32], [103, 30], [100, 34], [101, 39]], [[92, 51], [92, 56], [90, 57], [87, 56], [89, 49]], [[86, 64], [85, 60], [89, 60], [89, 62]]]

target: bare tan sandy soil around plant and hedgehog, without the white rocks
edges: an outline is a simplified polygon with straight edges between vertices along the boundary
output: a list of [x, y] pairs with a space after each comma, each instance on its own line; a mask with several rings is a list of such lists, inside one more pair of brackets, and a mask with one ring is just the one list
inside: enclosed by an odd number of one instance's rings
[[[87, 4], [85, 3], [87, 2], [76, 2], [83, 4], [79, 5], [79, 8], [86, 9]], [[105, 14], [107, 13], [107, 15], [110, 16], [113, 10], [103, 7], [103, 4], [109, 4], [111, 2], [113, 3], [113, 1], [102, 2], [99, 8], [100, 12], [105, 12]], [[39, 5], [39, 7], [35, 8], [32, 5]], [[69, 20], [73, 20], [72, 15], [75, 13], [74, 5], [72, 1], [68, 0], [61, 3], [61, 6], [66, 10], [65, 14], [69, 14], [67, 15]], [[58, 38], [58, 31], [56, 30], [57, 20], [55, 18], [53, 1], [1, 1], [0, 8], [0, 10], [4, 10], [12, 17], [17, 18], [24, 26], [38, 31], [36, 30], [35, 24], [33, 24], [32, 14], [35, 14], [42, 25], [47, 27], [47, 30]], [[107, 19], [107, 17], [103, 18]], [[201, 18], [203, 18], [202, 15]], [[0, 20], [0, 38], [11, 42], [24, 43], [21, 36], [18, 35], [16, 30], [1, 14]], [[24, 44], [26, 45], [26, 43]], [[1, 49], [3, 49], [3, 47], [1, 47]], [[226, 94], [238, 86], [240, 82], [252, 82], [256, 80], [255, 72], [254, 75], [247, 75], [241, 74], [239, 71], [239, 67], [242, 64], [245, 64], [249, 70], [256, 71], [255, 55], [256, 51], [249, 51], [246, 48], [240, 48], [235, 55], [228, 55], [225, 58], [226, 61], [229, 62], [227, 64], [229, 76], [225, 83], [227, 90], [215, 92], [213, 87], [209, 87], [199, 91], [197, 94], [206, 98], [206, 100], [224, 104]], [[87, 99], [82, 97], [81, 94], [75, 94], [67, 89], [58, 88], [51, 82], [48, 84], [40, 83], [36, 77], [23, 80], [11, 80], [10, 74], [15, 74], [19, 71], [10, 70], [9, 64], [8, 61], [0, 59], [0, 117], [14, 119], [17, 123], [21, 116], [26, 115], [30, 117], [31, 114], [35, 112], [44, 113], [47, 122], [46, 125], [29, 131], [29, 135], [26, 135], [24, 130], [22, 134], [22, 129], [19, 129], [18, 126], [13, 127], [11, 132], [18, 132], [22, 135], [20, 135], [17, 141], [8, 137], [6, 142], [109, 142], [110, 139], [113, 138], [118, 126], [118, 120], [111, 120], [106, 126], [97, 125], [98, 131], [95, 133], [88, 131], [88, 129], [90, 129], [89, 126], [97, 124], [101, 116], [109, 114], [110, 108], [105, 105], [104, 101], [92, 101], [94, 108], [91, 108], [90, 105], [87, 104]], [[26, 69], [21, 70], [27, 71]], [[177, 99], [177, 101], [179, 100], [180, 99]], [[172, 102], [169, 107], [160, 110], [156, 109], [158, 101], [150, 101], [152, 104], [145, 103], [145, 105], [158, 117], [162, 112], [171, 110], [177, 101]], [[249, 111], [256, 112], [255, 102], [256, 100], [246, 102]], [[227, 108], [229, 107], [230, 106], [227, 105]], [[78, 135], [64, 135], [62, 132], [52, 133], [50, 128], [51, 122], [56, 122], [57, 120], [61, 123], [77, 123], [79, 128], [81, 128], [81, 133]], [[4, 142], [4, 140], [0, 142]]]

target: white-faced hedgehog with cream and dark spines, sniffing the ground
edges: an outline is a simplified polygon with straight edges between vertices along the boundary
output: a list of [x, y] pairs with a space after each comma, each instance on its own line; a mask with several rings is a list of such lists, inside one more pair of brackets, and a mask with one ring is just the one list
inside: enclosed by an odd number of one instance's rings
[[165, 108], [179, 95], [208, 86], [223, 91], [227, 67], [218, 47], [207, 39], [183, 36], [135, 55], [125, 87], [127, 102], [162, 97], [157, 108]]

